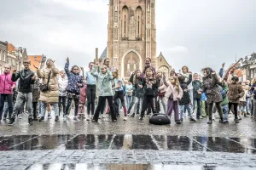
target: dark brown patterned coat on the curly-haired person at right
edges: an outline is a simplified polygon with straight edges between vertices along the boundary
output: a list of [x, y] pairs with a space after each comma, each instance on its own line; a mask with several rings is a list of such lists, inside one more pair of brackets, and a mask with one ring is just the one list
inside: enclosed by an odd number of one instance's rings
[[207, 104], [218, 103], [223, 100], [218, 84], [219, 81], [216, 74], [203, 80], [201, 91], [207, 93]]

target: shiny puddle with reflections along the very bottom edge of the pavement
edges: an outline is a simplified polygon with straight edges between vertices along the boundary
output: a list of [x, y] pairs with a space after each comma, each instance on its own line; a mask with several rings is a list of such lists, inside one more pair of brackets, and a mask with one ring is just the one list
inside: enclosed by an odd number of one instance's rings
[[164, 165], [164, 164], [35, 164], [26, 170], [251, 170], [251, 167], [208, 167], [208, 166], [183, 166], [183, 165]]

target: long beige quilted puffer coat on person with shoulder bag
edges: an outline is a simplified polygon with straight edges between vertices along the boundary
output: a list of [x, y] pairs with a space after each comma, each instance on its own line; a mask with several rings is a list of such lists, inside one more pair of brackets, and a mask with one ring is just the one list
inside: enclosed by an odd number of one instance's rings
[[[51, 74], [49, 77], [49, 71]], [[42, 84], [47, 84], [49, 77], [49, 91], [41, 92], [39, 101], [44, 103], [57, 103], [59, 101], [59, 87], [57, 74], [59, 73], [58, 69], [53, 65], [51, 68], [44, 68], [42, 70], [37, 70], [39, 78], [42, 78]]]

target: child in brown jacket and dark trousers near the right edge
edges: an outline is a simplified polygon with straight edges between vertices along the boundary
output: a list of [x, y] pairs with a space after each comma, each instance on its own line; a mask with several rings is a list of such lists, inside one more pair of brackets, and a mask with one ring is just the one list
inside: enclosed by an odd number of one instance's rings
[[234, 76], [231, 78], [231, 82], [229, 84], [229, 92], [228, 92], [228, 99], [229, 99], [229, 110], [231, 106], [234, 106], [234, 114], [235, 114], [235, 122], [239, 123], [238, 120], [238, 104], [240, 102], [241, 97], [244, 96], [244, 90], [241, 87], [241, 84], [238, 83], [238, 77]]

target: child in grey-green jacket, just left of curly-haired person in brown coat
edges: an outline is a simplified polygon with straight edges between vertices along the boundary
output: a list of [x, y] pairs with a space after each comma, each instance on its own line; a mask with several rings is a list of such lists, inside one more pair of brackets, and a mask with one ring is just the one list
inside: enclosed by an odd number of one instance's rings
[[193, 78], [194, 78], [194, 81], [192, 82], [192, 86], [193, 86], [193, 98], [194, 98], [194, 100], [193, 100], [194, 111], [195, 111], [195, 102], [196, 102], [196, 105], [197, 105], [196, 118], [200, 119], [200, 118], [202, 118], [202, 116], [201, 116], [201, 94], [198, 94], [198, 90], [201, 89], [202, 82], [200, 81], [197, 73], [195, 73], [193, 75]]

